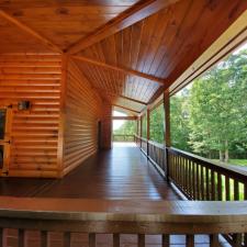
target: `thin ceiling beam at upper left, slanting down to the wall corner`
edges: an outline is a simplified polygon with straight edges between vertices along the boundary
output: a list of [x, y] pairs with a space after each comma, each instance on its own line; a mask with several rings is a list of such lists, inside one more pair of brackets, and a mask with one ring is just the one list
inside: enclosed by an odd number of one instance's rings
[[19, 20], [16, 20], [15, 18], [11, 16], [10, 14], [5, 13], [4, 11], [0, 10], [0, 16], [5, 19], [7, 21], [9, 21], [10, 23], [14, 24], [15, 26], [18, 26], [20, 30], [24, 31], [25, 33], [29, 33], [30, 35], [32, 35], [33, 37], [37, 38], [41, 43], [43, 43], [46, 47], [53, 49], [56, 53], [60, 53], [63, 54], [64, 52], [57, 46], [55, 45], [53, 42], [50, 42], [49, 40], [47, 40], [46, 37], [42, 36], [40, 33], [37, 33], [36, 31], [32, 30], [31, 27], [29, 27], [27, 25], [25, 25], [24, 23], [20, 22]]

